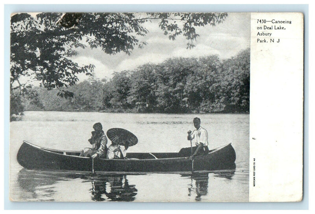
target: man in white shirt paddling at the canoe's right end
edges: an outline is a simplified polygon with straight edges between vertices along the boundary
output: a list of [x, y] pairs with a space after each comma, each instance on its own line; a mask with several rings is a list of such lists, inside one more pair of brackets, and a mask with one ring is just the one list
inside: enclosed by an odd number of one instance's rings
[[195, 139], [196, 150], [189, 159], [192, 160], [196, 155], [208, 154], [208, 132], [203, 127], [200, 126], [200, 119], [195, 117], [193, 119], [194, 127], [196, 128], [193, 132], [189, 130], [187, 140]]

